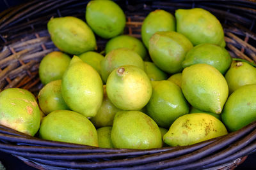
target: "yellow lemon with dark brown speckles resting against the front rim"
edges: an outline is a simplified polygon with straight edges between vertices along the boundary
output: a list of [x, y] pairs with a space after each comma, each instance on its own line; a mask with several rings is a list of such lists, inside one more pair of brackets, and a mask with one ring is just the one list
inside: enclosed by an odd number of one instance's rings
[[164, 135], [170, 146], [186, 146], [227, 134], [218, 118], [206, 113], [191, 113], [177, 118]]

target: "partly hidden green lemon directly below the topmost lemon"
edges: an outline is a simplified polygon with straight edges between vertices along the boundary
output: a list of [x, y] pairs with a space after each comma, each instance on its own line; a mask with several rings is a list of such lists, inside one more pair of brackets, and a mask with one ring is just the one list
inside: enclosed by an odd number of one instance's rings
[[110, 39], [106, 44], [105, 52], [109, 53], [116, 48], [129, 48], [130, 50], [134, 50], [142, 59], [145, 59], [147, 55], [147, 50], [140, 39], [129, 35], [116, 36]]

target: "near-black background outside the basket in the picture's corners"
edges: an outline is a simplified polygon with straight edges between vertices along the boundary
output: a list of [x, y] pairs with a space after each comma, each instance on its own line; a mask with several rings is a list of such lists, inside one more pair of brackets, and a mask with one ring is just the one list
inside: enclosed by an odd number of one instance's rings
[[[28, 0], [0, 0], [0, 12], [20, 3], [26, 3]], [[35, 168], [27, 166], [22, 160], [17, 159], [13, 155], [0, 152], [0, 160], [6, 170], [35, 170]], [[236, 167], [236, 170], [256, 169], [256, 153], [249, 155], [243, 164]]]

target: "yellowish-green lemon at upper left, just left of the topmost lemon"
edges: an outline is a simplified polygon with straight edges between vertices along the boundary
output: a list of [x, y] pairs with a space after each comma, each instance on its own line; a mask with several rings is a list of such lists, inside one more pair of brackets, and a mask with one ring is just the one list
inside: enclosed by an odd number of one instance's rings
[[79, 18], [51, 18], [47, 29], [54, 45], [63, 52], [79, 55], [96, 48], [96, 39], [92, 30]]

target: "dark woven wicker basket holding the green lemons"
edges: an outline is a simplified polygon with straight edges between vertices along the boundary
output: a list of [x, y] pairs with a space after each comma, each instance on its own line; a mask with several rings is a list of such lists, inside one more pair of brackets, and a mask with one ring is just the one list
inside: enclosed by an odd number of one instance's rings
[[[30, 1], [0, 13], [0, 90], [42, 88], [38, 66], [45, 54], [57, 50], [46, 24], [54, 17], [72, 15], [84, 20], [88, 1]], [[116, 1], [125, 11], [125, 34], [140, 38], [140, 27], [150, 11], [161, 8], [204, 8], [223, 24], [232, 57], [256, 61], [256, 2], [233, 1]], [[97, 37], [98, 51], [106, 39]], [[38, 169], [230, 169], [256, 151], [256, 122], [219, 138], [191, 146], [127, 150], [96, 148], [46, 141], [0, 125], [0, 151]]]

